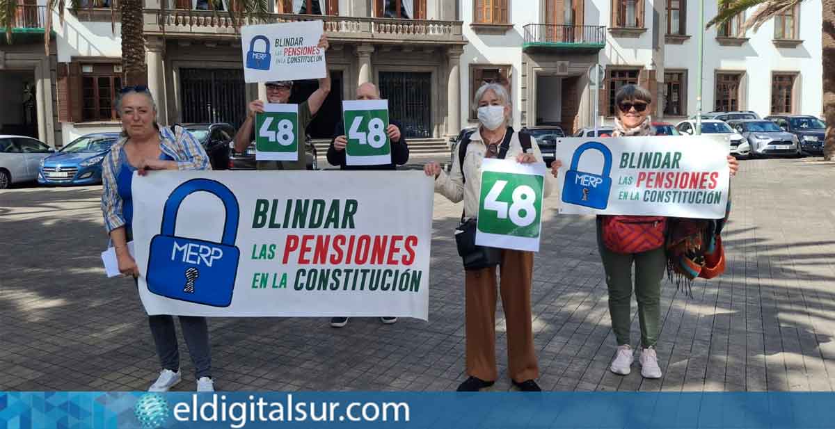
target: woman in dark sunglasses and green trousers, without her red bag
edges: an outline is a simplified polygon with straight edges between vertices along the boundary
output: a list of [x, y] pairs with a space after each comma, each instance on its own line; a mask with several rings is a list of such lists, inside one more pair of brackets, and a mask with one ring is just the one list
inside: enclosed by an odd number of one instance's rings
[[[636, 85], [625, 85], [620, 88], [615, 94], [618, 112], [612, 136], [653, 135], [649, 116], [651, 103], [652, 96], [645, 88]], [[739, 162], [734, 157], [728, 156], [728, 166], [732, 176], [739, 169]], [[630, 346], [630, 306], [632, 265], [635, 265], [635, 299], [638, 301], [640, 321], [640, 375], [645, 378], [660, 378], [661, 369], [655, 354], [655, 343], [658, 341], [660, 327], [661, 280], [664, 278], [667, 266], [664, 245], [635, 254], [615, 253], [604, 244], [606, 218], [606, 216], [598, 216], [597, 244], [606, 273], [606, 285], [609, 288], [612, 331], [615, 331], [615, 339], [618, 341], [610, 371], [622, 376], [628, 375], [634, 361], [632, 346]]]

